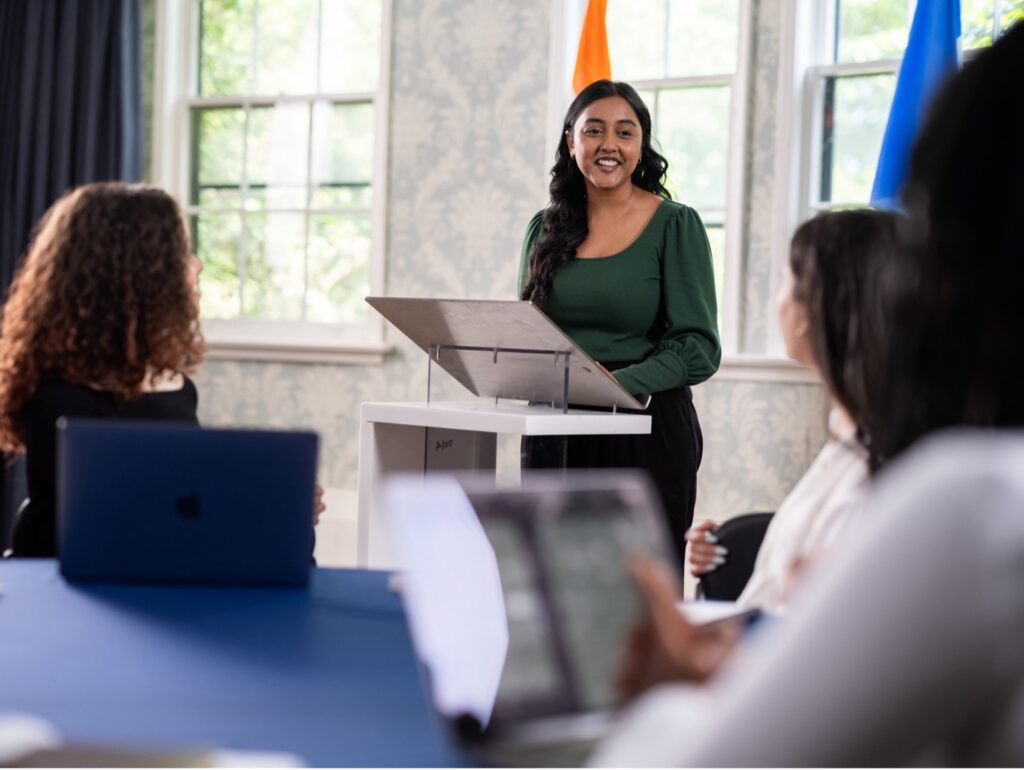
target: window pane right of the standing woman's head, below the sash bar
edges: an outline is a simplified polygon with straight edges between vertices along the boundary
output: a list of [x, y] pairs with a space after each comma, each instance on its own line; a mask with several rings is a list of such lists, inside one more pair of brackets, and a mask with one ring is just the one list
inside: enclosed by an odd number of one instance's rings
[[669, 159], [673, 198], [725, 208], [729, 156], [729, 88], [665, 89], [657, 97], [654, 138]]

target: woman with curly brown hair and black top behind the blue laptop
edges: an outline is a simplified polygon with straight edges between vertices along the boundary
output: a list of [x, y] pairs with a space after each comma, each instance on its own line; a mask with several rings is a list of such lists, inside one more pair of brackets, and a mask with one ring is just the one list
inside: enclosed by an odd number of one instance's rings
[[57, 418], [198, 422], [202, 268], [153, 187], [87, 184], [40, 221], [0, 329], [0, 447], [29, 475], [14, 556], [56, 553]]

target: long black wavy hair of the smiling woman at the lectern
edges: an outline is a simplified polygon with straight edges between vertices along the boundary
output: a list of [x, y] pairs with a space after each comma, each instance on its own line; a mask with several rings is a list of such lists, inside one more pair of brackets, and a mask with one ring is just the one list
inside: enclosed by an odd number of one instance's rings
[[622, 96], [640, 121], [640, 163], [633, 172], [633, 183], [662, 198], [670, 198], [665, 187], [669, 162], [654, 149], [651, 141], [650, 112], [629, 83], [598, 80], [580, 91], [569, 104], [562, 122], [562, 135], [551, 168], [551, 202], [544, 212], [541, 237], [529, 253], [529, 274], [522, 288], [522, 299], [543, 306], [551, 293], [551, 282], [559, 267], [575, 257], [577, 249], [587, 240], [587, 186], [583, 173], [569, 156], [568, 137], [583, 111], [592, 102], [609, 96]]

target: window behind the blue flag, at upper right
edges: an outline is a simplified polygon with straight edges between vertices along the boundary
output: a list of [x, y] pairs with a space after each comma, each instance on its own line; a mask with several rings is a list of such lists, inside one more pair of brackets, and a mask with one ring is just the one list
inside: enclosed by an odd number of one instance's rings
[[[866, 205], [916, 0], [833, 0], [815, 19], [809, 69], [808, 201], [813, 211]], [[962, 0], [961, 44], [971, 51], [1024, 18], [1024, 0]]]

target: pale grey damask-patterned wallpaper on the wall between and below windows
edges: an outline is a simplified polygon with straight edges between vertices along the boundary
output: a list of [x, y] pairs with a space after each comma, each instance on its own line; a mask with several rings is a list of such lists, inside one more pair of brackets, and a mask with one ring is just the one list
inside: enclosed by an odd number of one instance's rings
[[[744, 340], [763, 351], [774, 323], [767, 203], [779, 8], [755, 5]], [[549, 12], [549, 0], [395, 0], [389, 294], [514, 295], [520, 240], [546, 200]], [[422, 353], [394, 341], [379, 367], [208, 361], [197, 378], [201, 418], [312, 428], [322, 482], [354, 489], [359, 402], [423, 397]], [[820, 389], [713, 380], [694, 392], [706, 439], [698, 515], [773, 509], [823, 441]], [[516, 461], [503, 439], [503, 472]]]

